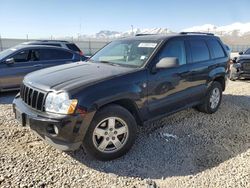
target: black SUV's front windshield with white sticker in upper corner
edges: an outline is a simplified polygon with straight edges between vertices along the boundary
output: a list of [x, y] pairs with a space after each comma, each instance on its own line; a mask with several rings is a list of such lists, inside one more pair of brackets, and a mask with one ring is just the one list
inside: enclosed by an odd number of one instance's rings
[[113, 65], [141, 67], [150, 57], [158, 42], [142, 40], [114, 41], [97, 52], [90, 61]]

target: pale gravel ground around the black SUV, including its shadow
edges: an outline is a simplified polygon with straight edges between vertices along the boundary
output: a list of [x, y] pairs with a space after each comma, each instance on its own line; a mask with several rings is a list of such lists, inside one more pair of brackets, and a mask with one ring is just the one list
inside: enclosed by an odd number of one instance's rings
[[45, 144], [18, 127], [14, 93], [1, 94], [0, 187], [250, 187], [249, 82], [230, 82], [213, 115], [188, 109], [140, 128], [110, 162]]

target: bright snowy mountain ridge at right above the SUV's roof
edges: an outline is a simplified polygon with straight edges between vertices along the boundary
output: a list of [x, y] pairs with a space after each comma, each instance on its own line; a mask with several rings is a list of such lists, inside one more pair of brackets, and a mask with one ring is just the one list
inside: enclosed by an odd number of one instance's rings
[[243, 36], [250, 34], [250, 23], [233, 23], [225, 26], [215, 26], [212, 24], [205, 24], [201, 26], [194, 26], [183, 29], [183, 31], [192, 32], [210, 32], [221, 36]]

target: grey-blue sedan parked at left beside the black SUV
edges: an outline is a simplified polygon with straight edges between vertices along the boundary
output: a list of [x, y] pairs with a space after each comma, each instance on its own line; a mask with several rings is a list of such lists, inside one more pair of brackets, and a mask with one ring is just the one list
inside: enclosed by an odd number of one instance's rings
[[18, 45], [0, 52], [0, 91], [19, 89], [23, 77], [35, 70], [80, 61], [72, 50], [45, 45]]

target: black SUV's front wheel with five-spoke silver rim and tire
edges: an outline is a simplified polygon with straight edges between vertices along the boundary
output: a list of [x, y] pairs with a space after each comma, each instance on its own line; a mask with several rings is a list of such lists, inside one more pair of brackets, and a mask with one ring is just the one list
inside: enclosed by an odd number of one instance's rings
[[97, 111], [83, 141], [84, 149], [99, 160], [112, 160], [127, 153], [136, 138], [132, 114], [119, 105]]

